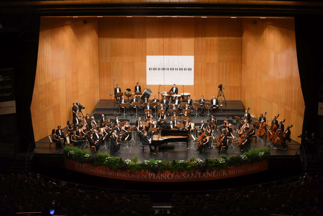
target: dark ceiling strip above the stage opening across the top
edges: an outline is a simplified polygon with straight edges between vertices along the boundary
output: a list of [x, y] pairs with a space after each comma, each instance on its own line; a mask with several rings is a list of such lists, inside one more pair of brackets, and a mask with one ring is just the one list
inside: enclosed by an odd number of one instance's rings
[[320, 15], [323, 0], [2, 0], [3, 13], [63, 15]]

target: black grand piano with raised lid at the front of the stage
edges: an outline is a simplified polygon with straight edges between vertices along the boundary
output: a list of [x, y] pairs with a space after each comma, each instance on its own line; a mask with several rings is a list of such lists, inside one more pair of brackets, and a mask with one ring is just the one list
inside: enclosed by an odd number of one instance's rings
[[187, 130], [168, 130], [160, 128], [160, 134], [156, 133], [152, 135], [151, 145], [156, 150], [158, 146], [169, 142], [186, 142], [186, 148], [188, 147], [189, 131]]

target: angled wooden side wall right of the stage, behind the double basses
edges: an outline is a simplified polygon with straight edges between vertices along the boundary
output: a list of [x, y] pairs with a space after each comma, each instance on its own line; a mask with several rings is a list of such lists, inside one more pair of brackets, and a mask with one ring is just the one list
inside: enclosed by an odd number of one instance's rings
[[277, 113], [293, 124], [292, 139], [300, 142], [304, 118], [304, 99], [296, 56], [294, 20], [243, 19], [241, 101], [258, 116], [267, 119]]

